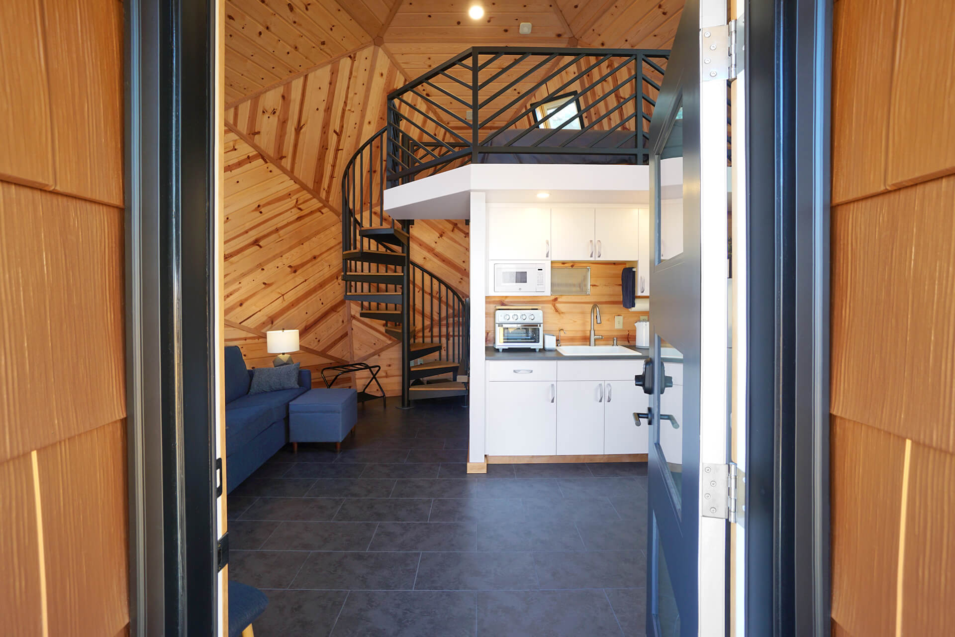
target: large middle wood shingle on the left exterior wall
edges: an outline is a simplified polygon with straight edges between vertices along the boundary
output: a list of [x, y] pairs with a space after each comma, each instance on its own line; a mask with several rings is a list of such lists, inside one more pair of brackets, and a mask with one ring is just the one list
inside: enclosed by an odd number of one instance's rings
[[125, 415], [122, 227], [117, 208], [0, 182], [0, 459]]

